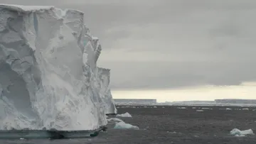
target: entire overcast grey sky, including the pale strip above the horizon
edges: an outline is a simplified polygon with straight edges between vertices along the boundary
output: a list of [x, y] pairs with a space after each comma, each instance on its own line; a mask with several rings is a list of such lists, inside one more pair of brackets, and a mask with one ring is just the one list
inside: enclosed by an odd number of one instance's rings
[[111, 69], [114, 98], [256, 99], [255, 0], [0, 3], [85, 12], [85, 24], [102, 44], [97, 65]]

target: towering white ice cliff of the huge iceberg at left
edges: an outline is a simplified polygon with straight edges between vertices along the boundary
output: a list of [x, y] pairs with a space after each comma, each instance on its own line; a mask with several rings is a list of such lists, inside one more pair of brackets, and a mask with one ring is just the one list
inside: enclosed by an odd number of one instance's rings
[[0, 129], [92, 130], [116, 111], [83, 13], [0, 4]]

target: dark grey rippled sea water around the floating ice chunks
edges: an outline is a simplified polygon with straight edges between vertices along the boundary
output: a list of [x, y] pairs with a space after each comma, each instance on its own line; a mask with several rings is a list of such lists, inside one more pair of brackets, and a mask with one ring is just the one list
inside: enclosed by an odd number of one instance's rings
[[[186, 109], [177, 109], [186, 107]], [[80, 144], [80, 143], [177, 143], [177, 144], [256, 144], [255, 135], [235, 137], [230, 135], [233, 128], [252, 129], [256, 133], [256, 108], [242, 110], [231, 107], [225, 110], [221, 106], [203, 106], [203, 112], [197, 112], [200, 106], [120, 106], [118, 113], [128, 112], [132, 118], [121, 118], [125, 123], [139, 126], [139, 130], [117, 130], [110, 123], [107, 132], [95, 138], [70, 140], [0, 140], [3, 144]], [[241, 109], [241, 110], [239, 110]]]

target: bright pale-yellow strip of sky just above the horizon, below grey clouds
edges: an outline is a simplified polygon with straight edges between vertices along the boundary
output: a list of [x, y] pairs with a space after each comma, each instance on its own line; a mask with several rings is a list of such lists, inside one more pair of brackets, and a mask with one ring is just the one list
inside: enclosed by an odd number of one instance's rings
[[256, 83], [238, 86], [202, 86], [184, 89], [112, 91], [114, 99], [157, 99], [164, 101], [210, 101], [214, 99], [256, 99]]

